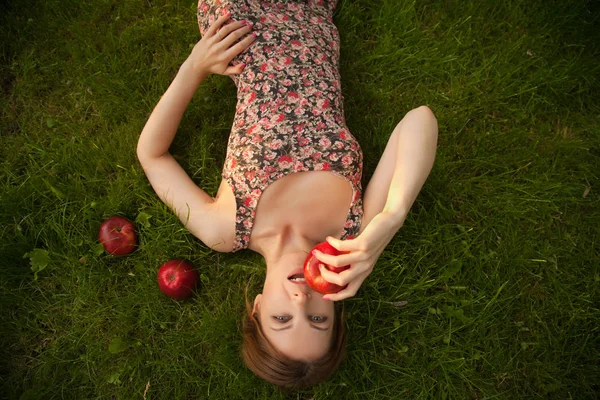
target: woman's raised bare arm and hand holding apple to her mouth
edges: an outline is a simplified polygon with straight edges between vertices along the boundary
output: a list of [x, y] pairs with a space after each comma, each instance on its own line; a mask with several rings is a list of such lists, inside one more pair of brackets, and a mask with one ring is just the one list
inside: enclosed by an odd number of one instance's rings
[[365, 192], [360, 234], [345, 241], [327, 238], [333, 247], [349, 253], [340, 256], [316, 254], [319, 260], [330, 265], [350, 264], [350, 269], [339, 274], [321, 268], [327, 281], [348, 285], [324, 299], [343, 300], [354, 296], [373, 271], [377, 259], [404, 224], [431, 172], [437, 135], [437, 121], [427, 107], [410, 111], [396, 126]]

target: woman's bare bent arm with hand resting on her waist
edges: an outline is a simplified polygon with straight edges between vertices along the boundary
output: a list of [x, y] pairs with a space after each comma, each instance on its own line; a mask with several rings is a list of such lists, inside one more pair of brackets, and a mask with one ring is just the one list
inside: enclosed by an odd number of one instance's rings
[[222, 26], [227, 19], [228, 16], [223, 16], [215, 21], [196, 44], [154, 108], [137, 145], [140, 164], [160, 199], [190, 232], [218, 251], [233, 248], [232, 216], [225, 215], [215, 199], [190, 179], [169, 153], [169, 147], [185, 109], [204, 78], [211, 73], [230, 75], [243, 70], [243, 65], [232, 67], [228, 64], [253, 42], [254, 37], [248, 35], [233, 45], [250, 28], [241, 22]]

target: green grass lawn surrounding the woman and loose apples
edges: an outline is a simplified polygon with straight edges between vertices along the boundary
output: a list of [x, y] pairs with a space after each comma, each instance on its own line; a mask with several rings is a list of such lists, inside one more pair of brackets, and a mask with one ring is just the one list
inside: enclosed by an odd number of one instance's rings
[[[84, 4], [85, 3], [85, 4]], [[0, 5], [0, 397], [287, 398], [240, 359], [264, 262], [209, 251], [135, 157], [199, 39], [195, 1]], [[316, 399], [595, 399], [600, 391], [600, 8], [593, 1], [340, 0], [346, 120], [365, 182], [410, 109], [439, 121], [405, 226], [346, 301], [348, 358]], [[172, 152], [215, 193], [235, 87], [211, 76]], [[108, 216], [132, 255], [98, 254]], [[34, 249], [49, 262], [35, 279]], [[187, 258], [198, 295], [156, 271]], [[391, 302], [406, 301], [404, 306]], [[115, 338], [124, 346], [109, 351]]]

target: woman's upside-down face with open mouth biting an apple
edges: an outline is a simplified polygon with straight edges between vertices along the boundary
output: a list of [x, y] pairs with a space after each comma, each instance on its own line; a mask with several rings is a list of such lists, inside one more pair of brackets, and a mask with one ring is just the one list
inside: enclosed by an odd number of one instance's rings
[[[295, 264], [297, 265], [297, 264]], [[254, 311], [269, 342], [284, 355], [312, 361], [329, 350], [333, 332], [333, 302], [305, 282], [300, 267], [280, 267], [267, 273], [263, 293], [256, 296]]]

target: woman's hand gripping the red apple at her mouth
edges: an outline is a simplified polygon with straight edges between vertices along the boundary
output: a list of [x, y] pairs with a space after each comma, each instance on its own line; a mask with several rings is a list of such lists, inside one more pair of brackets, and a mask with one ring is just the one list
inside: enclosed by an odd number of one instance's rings
[[338, 240], [327, 237], [327, 242], [330, 245], [341, 252], [347, 252], [347, 254], [332, 256], [315, 251], [314, 255], [317, 260], [335, 267], [350, 265], [350, 268], [336, 274], [323, 265], [319, 266], [321, 275], [326, 281], [340, 286], [348, 285], [346, 289], [338, 293], [323, 296], [323, 299], [338, 301], [354, 296], [367, 276], [373, 271], [377, 259], [400, 226], [401, 223], [398, 225], [394, 218], [382, 212], [377, 214], [355, 239]]

